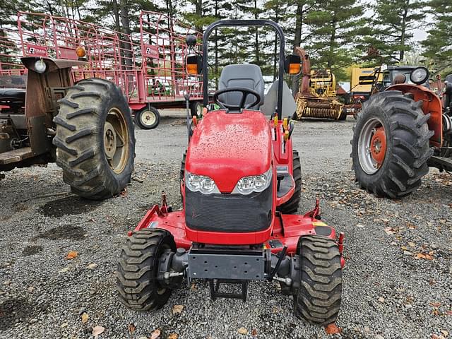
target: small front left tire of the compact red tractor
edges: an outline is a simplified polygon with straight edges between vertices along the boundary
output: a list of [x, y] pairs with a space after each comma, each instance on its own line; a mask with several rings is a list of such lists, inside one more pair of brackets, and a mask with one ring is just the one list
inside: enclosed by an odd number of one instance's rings
[[162, 252], [176, 251], [174, 239], [166, 230], [143, 229], [127, 238], [117, 267], [117, 290], [121, 302], [136, 311], [160, 309], [171, 289], [157, 280]]

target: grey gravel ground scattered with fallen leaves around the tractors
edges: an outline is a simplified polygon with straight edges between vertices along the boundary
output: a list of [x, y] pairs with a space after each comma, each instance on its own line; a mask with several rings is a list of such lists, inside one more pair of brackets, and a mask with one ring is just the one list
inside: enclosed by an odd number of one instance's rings
[[[323, 220], [345, 232], [340, 335], [292, 316], [274, 284], [249, 286], [246, 304], [209, 299], [201, 283], [174, 291], [153, 313], [129, 311], [115, 291], [126, 232], [160, 202], [174, 208], [184, 121], [137, 131], [135, 176], [126, 194], [103, 202], [69, 193], [55, 165], [15, 169], [1, 180], [0, 338], [448, 338], [452, 334], [452, 177], [432, 169], [403, 201], [361, 191], [350, 171], [353, 119], [297, 123], [302, 156], [299, 211], [321, 198]], [[66, 259], [69, 251], [78, 256]], [[180, 312], [174, 313], [174, 305]], [[88, 320], [83, 323], [82, 318]], [[239, 328], [247, 334], [240, 334]], [[176, 335], [172, 335], [176, 333]], [[172, 335], [172, 337], [170, 336]], [[92, 336], [91, 336], [92, 338]]]

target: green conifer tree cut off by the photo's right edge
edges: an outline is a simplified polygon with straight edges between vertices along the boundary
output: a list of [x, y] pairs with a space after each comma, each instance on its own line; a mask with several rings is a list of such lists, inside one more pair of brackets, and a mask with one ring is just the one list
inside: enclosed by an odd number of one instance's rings
[[434, 16], [432, 29], [422, 42], [424, 57], [432, 59], [436, 71], [452, 71], [452, 3], [450, 0], [429, 1], [429, 13]]

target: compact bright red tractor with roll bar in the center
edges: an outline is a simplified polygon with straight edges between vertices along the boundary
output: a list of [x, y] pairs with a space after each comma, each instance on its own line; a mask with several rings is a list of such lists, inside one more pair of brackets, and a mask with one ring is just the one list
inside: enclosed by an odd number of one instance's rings
[[[172, 211], [163, 194], [162, 206], [146, 213], [121, 251], [117, 288], [126, 307], [158, 309], [184, 279], [188, 285], [207, 280], [213, 300], [244, 302], [250, 280], [276, 280], [283, 293], [294, 296], [297, 317], [324, 325], [338, 316], [343, 234], [321, 221], [318, 201], [314, 210], [295, 214], [301, 169], [292, 150], [295, 125], [283, 119], [295, 112], [283, 78], [299, 73], [300, 59], [284, 57], [283, 30], [270, 20], [220, 20], [208, 26], [202, 57], [187, 57], [186, 70], [203, 73], [207, 107], [210, 33], [263, 25], [279, 36], [280, 81], [264, 102], [258, 66], [235, 64], [222, 70], [220, 89], [213, 95], [220, 109], [205, 108], [201, 120], [189, 119], [180, 182], [183, 210]], [[189, 36], [186, 42], [194, 47], [196, 38]], [[270, 120], [263, 113], [270, 113]], [[241, 292], [227, 293], [225, 284], [237, 284]]]

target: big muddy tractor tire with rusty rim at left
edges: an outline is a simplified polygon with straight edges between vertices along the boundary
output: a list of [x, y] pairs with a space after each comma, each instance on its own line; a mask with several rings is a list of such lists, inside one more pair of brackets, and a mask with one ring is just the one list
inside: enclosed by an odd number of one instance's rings
[[57, 165], [71, 191], [101, 200], [121, 193], [131, 179], [135, 133], [121, 89], [100, 78], [79, 81], [59, 100], [54, 117]]

